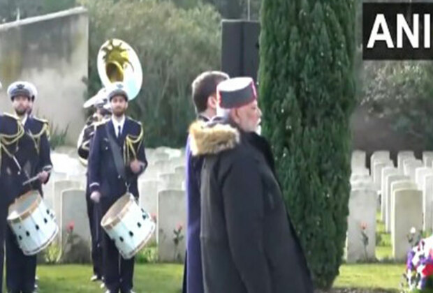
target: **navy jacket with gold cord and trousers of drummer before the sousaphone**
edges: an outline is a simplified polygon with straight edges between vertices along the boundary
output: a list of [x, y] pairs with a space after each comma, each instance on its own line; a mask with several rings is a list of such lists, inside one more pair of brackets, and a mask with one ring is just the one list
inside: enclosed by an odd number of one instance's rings
[[[101, 193], [102, 215], [127, 190], [138, 200], [137, 179], [147, 167], [141, 124], [126, 117], [121, 132], [119, 135], [117, 133], [119, 131], [115, 130], [113, 119], [103, 121], [96, 126], [90, 147], [89, 187], [91, 193], [94, 191]], [[108, 135], [115, 140], [115, 144], [122, 150], [119, 156], [122, 156], [124, 162], [125, 178], [119, 174], [116, 168], [115, 158], [112, 154], [114, 150], [110, 146]], [[133, 159], [145, 163], [138, 174], [134, 174], [129, 168], [129, 162]], [[122, 239], [115, 239], [115, 241], [122, 241]], [[115, 241], [103, 232], [103, 276], [105, 287], [109, 292], [118, 292], [119, 290], [121, 292], [130, 292], [133, 287], [134, 259], [124, 260], [120, 257]]]

